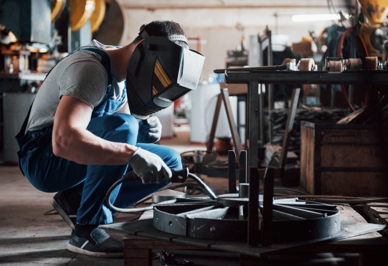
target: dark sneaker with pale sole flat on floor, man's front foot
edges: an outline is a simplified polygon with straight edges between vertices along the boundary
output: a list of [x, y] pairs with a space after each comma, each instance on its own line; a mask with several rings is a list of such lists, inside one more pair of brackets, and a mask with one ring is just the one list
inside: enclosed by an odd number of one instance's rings
[[67, 244], [69, 251], [103, 258], [122, 258], [123, 244], [100, 228], [94, 229], [87, 238], [78, 237], [74, 230]]

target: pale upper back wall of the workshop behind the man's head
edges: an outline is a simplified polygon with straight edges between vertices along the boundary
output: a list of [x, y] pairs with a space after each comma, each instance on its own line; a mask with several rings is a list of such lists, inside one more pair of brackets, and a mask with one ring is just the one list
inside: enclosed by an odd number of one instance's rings
[[[206, 56], [203, 78], [216, 68], [225, 67], [226, 51], [240, 43], [241, 31], [249, 35], [262, 33], [268, 25], [273, 33], [289, 34], [290, 43], [308, 36], [309, 30], [319, 34], [331, 21], [293, 23], [291, 15], [329, 13], [326, 0], [120, 0], [127, 20], [127, 39], [134, 39], [139, 27], [152, 20], [166, 19], [178, 22], [189, 37], [201, 37], [202, 54]], [[337, 11], [345, 0], [333, 0]], [[352, 2], [347, 1], [347, 2]], [[185, 7], [186, 6], [186, 7]], [[187, 7], [188, 6], [188, 7]], [[277, 13], [277, 30], [274, 14]], [[192, 48], [196, 48], [194, 44]], [[249, 47], [248, 47], [249, 49]]]

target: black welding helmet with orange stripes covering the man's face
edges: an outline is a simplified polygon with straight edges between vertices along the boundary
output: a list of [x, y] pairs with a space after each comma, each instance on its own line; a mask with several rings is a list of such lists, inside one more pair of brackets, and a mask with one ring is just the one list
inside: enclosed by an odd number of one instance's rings
[[149, 36], [144, 26], [139, 35], [145, 41], [136, 46], [127, 67], [129, 110], [138, 119], [148, 118], [196, 89], [205, 61], [200, 53], [173, 42], [187, 44], [186, 36]]

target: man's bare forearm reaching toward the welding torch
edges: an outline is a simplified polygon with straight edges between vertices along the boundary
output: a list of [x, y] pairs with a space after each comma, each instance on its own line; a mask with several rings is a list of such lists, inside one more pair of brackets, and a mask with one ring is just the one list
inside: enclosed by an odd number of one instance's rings
[[136, 150], [135, 146], [104, 140], [82, 128], [54, 132], [53, 152], [56, 156], [80, 164], [125, 164]]

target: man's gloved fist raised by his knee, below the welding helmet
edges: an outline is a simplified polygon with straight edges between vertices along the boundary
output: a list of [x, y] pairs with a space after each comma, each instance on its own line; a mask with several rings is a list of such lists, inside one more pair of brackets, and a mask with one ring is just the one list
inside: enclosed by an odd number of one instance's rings
[[139, 121], [138, 143], [155, 143], [161, 139], [162, 124], [158, 117], [149, 117]]

